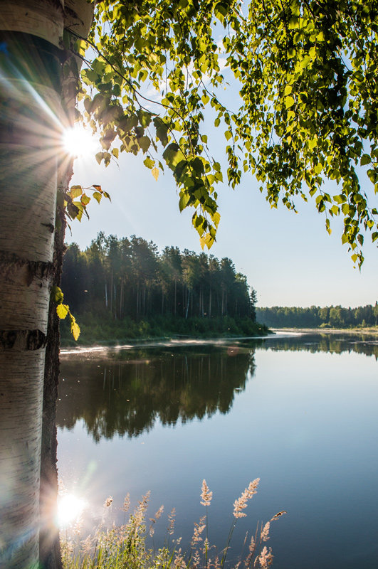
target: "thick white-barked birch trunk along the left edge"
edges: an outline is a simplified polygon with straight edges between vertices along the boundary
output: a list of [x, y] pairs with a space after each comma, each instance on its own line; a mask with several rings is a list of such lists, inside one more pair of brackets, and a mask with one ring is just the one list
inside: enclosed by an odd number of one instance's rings
[[[34, 21], [41, 16], [46, 26], [48, 14], [56, 42], [63, 32], [63, 9], [58, 3], [44, 4], [31, 2], [28, 15]], [[19, 9], [18, 22], [28, 17], [22, 4], [11, 7]], [[43, 374], [61, 135], [60, 62], [58, 48], [46, 38], [17, 31], [2, 33], [1, 40], [6, 53], [1, 58], [0, 95], [0, 566], [23, 569], [38, 566]]]

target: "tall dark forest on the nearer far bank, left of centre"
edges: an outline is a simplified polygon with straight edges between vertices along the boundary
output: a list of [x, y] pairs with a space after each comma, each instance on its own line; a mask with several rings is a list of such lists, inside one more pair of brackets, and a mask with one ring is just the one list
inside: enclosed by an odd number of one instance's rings
[[167, 321], [176, 322], [173, 328], [189, 333], [193, 326], [206, 333], [224, 325], [231, 333], [256, 331], [256, 292], [231, 259], [177, 247], [159, 252], [157, 245], [135, 235], [118, 239], [101, 232], [83, 251], [76, 243], [68, 245], [62, 289], [70, 310], [85, 315], [80, 326], [127, 320], [130, 337], [140, 335], [132, 323], [156, 319], [163, 329]]

